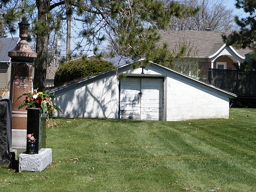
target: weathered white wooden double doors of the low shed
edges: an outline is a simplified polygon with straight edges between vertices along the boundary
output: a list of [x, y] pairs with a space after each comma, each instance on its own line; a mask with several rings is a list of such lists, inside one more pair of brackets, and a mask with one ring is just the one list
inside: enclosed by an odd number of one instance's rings
[[121, 81], [120, 118], [161, 120], [162, 79], [126, 78]]

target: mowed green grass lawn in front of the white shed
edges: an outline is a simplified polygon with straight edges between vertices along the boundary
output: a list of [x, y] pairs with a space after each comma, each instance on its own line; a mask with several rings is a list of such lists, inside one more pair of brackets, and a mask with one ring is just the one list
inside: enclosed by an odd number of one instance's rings
[[256, 110], [180, 122], [53, 119], [43, 172], [0, 167], [0, 191], [256, 191]]

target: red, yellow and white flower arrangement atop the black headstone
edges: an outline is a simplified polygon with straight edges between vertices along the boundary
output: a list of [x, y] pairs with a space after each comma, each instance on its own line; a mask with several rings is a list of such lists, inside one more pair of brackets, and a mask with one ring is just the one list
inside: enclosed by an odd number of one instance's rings
[[28, 108], [40, 108], [42, 110], [42, 113], [45, 113], [50, 117], [52, 117], [52, 114], [54, 114], [54, 110], [57, 110], [60, 114], [62, 114], [62, 111], [58, 108], [58, 106], [52, 103], [52, 97], [57, 97], [56, 95], [50, 95], [46, 91], [37, 92], [36, 89], [33, 93], [24, 93], [20, 95], [16, 99], [16, 101], [23, 96], [26, 96], [26, 99], [23, 101], [22, 104], [19, 105], [18, 109], [23, 108], [23, 106], [27, 105], [26, 110]]

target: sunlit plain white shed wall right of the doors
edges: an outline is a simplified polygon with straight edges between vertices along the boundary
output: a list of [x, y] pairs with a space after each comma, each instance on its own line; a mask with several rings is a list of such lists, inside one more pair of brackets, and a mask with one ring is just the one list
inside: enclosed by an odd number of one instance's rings
[[167, 78], [166, 120], [228, 118], [229, 98], [195, 84]]

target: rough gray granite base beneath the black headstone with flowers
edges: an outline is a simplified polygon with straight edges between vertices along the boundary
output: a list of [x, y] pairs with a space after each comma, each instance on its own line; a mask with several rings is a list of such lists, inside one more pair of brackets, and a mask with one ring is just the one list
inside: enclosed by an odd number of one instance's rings
[[52, 163], [52, 149], [51, 148], [41, 148], [38, 154], [20, 154], [18, 156], [19, 160], [19, 172], [41, 172], [48, 165]]

